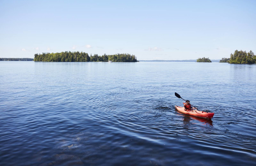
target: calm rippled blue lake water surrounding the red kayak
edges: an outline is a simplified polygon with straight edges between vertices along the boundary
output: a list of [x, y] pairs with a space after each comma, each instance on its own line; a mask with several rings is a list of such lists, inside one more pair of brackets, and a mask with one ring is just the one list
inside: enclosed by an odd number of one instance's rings
[[256, 65], [0, 62], [0, 82], [0, 165], [256, 163]]

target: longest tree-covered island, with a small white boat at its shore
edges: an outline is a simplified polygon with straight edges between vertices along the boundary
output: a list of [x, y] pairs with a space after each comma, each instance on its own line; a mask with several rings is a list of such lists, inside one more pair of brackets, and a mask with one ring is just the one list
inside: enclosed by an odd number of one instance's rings
[[42, 53], [35, 54], [34, 61], [39, 62], [138, 62], [137, 57], [131, 54], [115, 54], [102, 55], [92, 54], [89, 56], [85, 52], [57, 52], [57, 53]]

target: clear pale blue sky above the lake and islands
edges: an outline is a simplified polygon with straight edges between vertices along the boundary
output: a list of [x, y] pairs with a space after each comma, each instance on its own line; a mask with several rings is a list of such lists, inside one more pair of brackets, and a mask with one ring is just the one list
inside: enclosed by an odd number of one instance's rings
[[256, 1], [0, 1], [0, 57], [130, 53], [138, 60], [256, 53]]

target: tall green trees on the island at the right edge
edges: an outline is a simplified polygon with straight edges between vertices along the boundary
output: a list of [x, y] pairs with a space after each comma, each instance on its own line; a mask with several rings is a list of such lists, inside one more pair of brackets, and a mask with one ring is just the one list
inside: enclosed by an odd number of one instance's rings
[[246, 53], [246, 51], [243, 50], [235, 50], [234, 54], [230, 54], [230, 64], [254, 64], [255, 62], [256, 57], [252, 50], [248, 53]]

